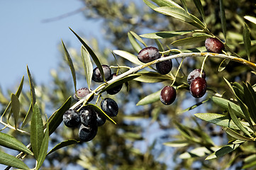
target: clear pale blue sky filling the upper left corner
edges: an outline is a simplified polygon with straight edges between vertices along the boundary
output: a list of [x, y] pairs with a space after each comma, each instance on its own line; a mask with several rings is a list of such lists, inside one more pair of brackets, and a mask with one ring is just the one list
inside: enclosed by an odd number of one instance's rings
[[69, 27], [86, 38], [96, 37], [98, 30], [92, 26], [94, 21], [86, 21], [82, 13], [43, 22], [75, 11], [82, 5], [79, 0], [0, 2], [0, 88], [3, 91], [13, 89], [23, 75], [27, 78], [27, 64], [38, 84], [47, 83], [50, 69], [60, 62], [57, 47], [61, 40], [72, 47], [81, 47]]

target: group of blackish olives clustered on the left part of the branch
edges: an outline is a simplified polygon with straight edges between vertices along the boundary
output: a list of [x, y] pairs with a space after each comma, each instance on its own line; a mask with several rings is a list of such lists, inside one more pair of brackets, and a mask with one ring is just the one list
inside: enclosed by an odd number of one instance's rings
[[[107, 65], [102, 65], [102, 69], [104, 70], [104, 77], [107, 81], [118, 76], [116, 73], [111, 74], [111, 69]], [[98, 67], [93, 70], [92, 80], [96, 82], [104, 81]], [[117, 94], [121, 91], [122, 86], [123, 84], [115, 86], [106, 92], [111, 95]], [[73, 98], [79, 101], [82, 98], [86, 98], [90, 93], [91, 91], [87, 87], [83, 87], [74, 93]], [[93, 98], [94, 95], [91, 96], [87, 102], [90, 102]], [[118, 115], [118, 104], [111, 98], [104, 98], [101, 101], [101, 110], [109, 117], [114, 117]], [[79, 139], [82, 142], [89, 142], [96, 136], [98, 127], [106, 123], [106, 118], [102, 113], [95, 111], [92, 106], [85, 105], [79, 108], [79, 111], [75, 109], [66, 111], [63, 114], [63, 122], [68, 128], [79, 127]]]

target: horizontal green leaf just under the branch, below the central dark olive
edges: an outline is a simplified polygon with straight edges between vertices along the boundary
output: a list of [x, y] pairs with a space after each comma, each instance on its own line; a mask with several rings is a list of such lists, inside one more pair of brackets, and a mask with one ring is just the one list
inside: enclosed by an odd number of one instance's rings
[[157, 72], [139, 72], [138, 74], [140, 74], [140, 77], [134, 80], [144, 82], [144, 83], [157, 83], [157, 82], [172, 79], [167, 75], [162, 75]]

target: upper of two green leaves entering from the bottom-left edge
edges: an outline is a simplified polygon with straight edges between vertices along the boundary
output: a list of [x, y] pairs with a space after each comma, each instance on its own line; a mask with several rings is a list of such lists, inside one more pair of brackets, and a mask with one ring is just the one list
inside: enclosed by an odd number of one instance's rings
[[0, 145], [3, 147], [8, 147], [10, 149], [26, 152], [27, 154], [33, 155], [33, 152], [31, 152], [30, 149], [23, 145], [22, 142], [6, 133], [0, 132]]

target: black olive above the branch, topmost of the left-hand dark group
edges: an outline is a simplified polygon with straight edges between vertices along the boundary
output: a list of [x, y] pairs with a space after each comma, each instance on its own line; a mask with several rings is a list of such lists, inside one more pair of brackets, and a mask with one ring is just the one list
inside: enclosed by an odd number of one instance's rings
[[[110, 69], [110, 67], [108, 67], [108, 65], [102, 65], [101, 67], [104, 72], [104, 77], [105, 77], [106, 81], [108, 81], [109, 77], [111, 76], [111, 69]], [[98, 67], [96, 67], [93, 70], [91, 79], [95, 82], [103, 82], [104, 81]]]

